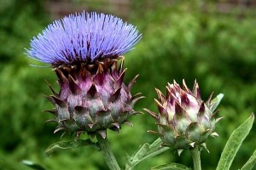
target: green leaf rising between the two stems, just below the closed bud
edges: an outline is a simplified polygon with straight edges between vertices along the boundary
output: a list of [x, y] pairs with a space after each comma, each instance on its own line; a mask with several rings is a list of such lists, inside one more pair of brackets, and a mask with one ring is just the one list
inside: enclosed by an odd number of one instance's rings
[[156, 139], [153, 144], [143, 144], [141, 145], [131, 156], [127, 155], [127, 161], [125, 164], [125, 170], [131, 170], [138, 163], [144, 161], [145, 159], [159, 155], [160, 153], [169, 150], [168, 147], [161, 146], [161, 139]]

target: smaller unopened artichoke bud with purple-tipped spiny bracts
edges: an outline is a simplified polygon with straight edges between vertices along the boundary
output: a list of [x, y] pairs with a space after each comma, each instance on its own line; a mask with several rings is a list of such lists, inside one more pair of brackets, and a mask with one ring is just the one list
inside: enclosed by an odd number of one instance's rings
[[216, 137], [215, 111], [216, 102], [212, 101], [212, 94], [207, 102], [201, 99], [198, 83], [195, 81], [193, 90], [189, 90], [183, 80], [183, 88], [173, 82], [166, 86], [166, 96], [155, 88], [159, 99], [154, 99], [159, 114], [145, 109], [154, 117], [158, 125], [158, 132], [148, 131], [160, 135], [163, 145], [177, 150], [178, 155], [185, 149], [202, 146], [207, 149], [206, 141], [209, 136]]

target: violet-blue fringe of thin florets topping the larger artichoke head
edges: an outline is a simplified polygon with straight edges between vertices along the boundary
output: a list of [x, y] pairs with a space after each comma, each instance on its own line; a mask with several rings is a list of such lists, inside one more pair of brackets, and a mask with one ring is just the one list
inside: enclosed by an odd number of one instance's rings
[[55, 20], [38, 37], [33, 37], [26, 54], [54, 66], [90, 64], [118, 58], [141, 37], [135, 26], [113, 15], [83, 12]]

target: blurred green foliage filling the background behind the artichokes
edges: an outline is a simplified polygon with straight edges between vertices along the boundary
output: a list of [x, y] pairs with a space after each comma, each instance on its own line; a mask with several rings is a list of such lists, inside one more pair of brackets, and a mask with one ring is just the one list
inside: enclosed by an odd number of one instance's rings
[[[0, 168], [26, 170], [22, 160], [31, 160], [48, 169], [107, 169], [102, 155], [94, 148], [67, 150], [46, 157], [44, 150], [60, 139], [53, 134], [55, 124], [44, 124], [50, 115], [40, 113], [52, 105], [43, 94], [50, 94], [44, 82], [55, 89], [55, 74], [50, 68], [24, 54], [32, 36], [49, 22], [44, 1], [2, 0], [0, 10]], [[150, 1], [154, 2], [154, 1]], [[193, 1], [194, 2], [194, 1]], [[203, 169], [215, 169], [230, 133], [256, 110], [256, 14], [253, 11], [230, 11], [221, 14], [214, 5], [201, 8], [201, 1], [172, 3], [169, 6], [145, 1], [132, 1], [130, 22], [143, 33], [136, 49], [125, 54], [128, 68], [125, 82], [137, 74], [133, 92], [142, 92], [146, 99], [136, 105], [138, 111], [154, 105], [154, 88], [165, 91], [167, 82], [184, 78], [192, 88], [196, 79], [202, 99], [214, 91], [225, 94], [219, 106], [218, 139], [207, 142], [211, 154], [202, 151]], [[121, 133], [108, 132], [108, 139], [121, 165], [125, 153], [131, 154], [139, 144], [152, 143], [157, 137], [147, 133], [156, 129], [147, 114], [131, 118], [134, 127], [123, 126]], [[255, 125], [255, 123], [254, 123]], [[249, 134], [231, 169], [240, 168], [255, 150], [255, 133]], [[86, 139], [84, 135], [82, 138]], [[64, 139], [70, 139], [67, 135]], [[137, 166], [148, 169], [160, 163], [183, 163], [191, 167], [189, 152], [181, 157], [165, 152]]]

